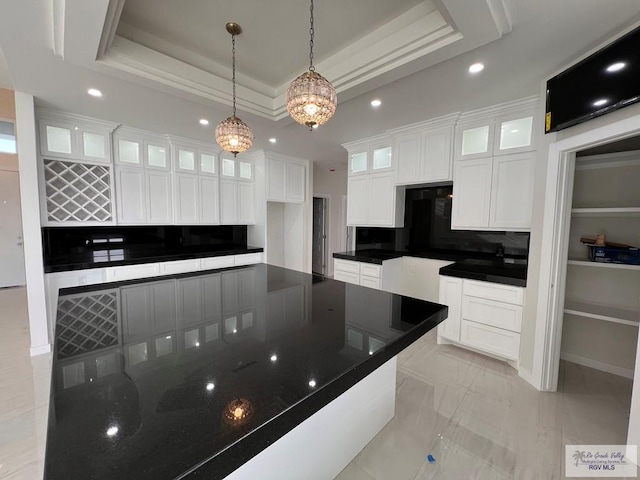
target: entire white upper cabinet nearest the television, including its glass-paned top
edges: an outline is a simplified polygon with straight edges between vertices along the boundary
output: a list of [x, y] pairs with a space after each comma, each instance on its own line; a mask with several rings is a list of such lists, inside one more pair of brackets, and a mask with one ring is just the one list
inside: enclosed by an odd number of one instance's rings
[[451, 228], [531, 228], [537, 97], [469, 112], [456, 127]]

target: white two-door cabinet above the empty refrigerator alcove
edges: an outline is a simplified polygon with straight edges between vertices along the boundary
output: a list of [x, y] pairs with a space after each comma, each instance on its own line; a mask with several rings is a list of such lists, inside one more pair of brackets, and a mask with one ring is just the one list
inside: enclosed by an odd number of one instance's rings
[[271, 153], [266, 162], [267, 201], [304, 203], [308, 162]]

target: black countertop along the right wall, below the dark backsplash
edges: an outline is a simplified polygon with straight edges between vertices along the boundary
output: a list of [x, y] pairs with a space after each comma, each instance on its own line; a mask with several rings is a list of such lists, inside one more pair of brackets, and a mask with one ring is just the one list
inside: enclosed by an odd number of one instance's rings
[[440, 269], [441, 275], [469, 278], [485, 282], [527, 286], [527, 264], [520, 259], [502, 259], [468, 252], [356, 250], [334, 253], [334, 258], [382, 265], [385, 260], [400, 257], [419, 257], [455, 262]]

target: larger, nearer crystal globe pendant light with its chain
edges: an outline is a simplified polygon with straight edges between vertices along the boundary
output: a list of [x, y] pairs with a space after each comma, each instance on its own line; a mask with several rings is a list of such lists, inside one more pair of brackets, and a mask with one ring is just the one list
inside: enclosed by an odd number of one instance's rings
[[304, 72], [291, 82], [287, 89], [287, 111], [296, 122], [309, 127], [326, 123], [338, 105], [338, 94], [331, 82], [316, 72], [313, 66], [313, 0], [311, 0], [311, 28], [309, 34], [309, 71]]

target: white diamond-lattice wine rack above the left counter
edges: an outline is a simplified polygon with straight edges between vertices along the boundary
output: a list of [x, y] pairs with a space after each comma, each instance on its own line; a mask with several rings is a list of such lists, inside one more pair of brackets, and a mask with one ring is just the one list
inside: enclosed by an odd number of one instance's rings
[[49, 222], [111, 222], [111, 171], [107, 166], [44, 161]]

